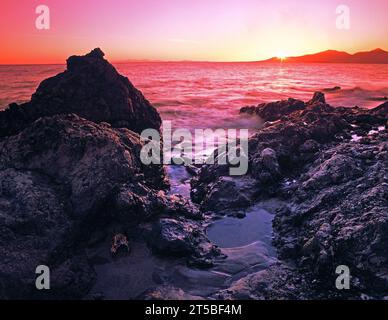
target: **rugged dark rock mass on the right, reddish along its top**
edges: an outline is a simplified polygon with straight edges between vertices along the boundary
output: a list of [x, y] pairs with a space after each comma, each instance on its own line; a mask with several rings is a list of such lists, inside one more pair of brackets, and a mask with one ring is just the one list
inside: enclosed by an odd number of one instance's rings
[[[290, 99], [260, 105], [252, 113], [276, 121], [250, 138], [249, 177], [257, 181], [256, 200], [276, 197], [288, 202], [274, 220], [281, 273], [295, 273], [287, 271], [290, 263], [298, 267], [302, 282], [315, 284], [296, 286], [292, 295], [285, 292], [283, 298], [384, 297], [388, 287], [388, 255], [383, 249], [388, 245], [386, 104], [372, 110], [334, 108], [316, 93], [303, 106]], [[207, 186], [226, 175], [216, 166], [203, 170], [212, 172], [213, 179], [202, 182], [201, 172], [194, 178], [197, 190], [203, 191], [194, 200], [202, 206], [211, 194]], [[350, 268], [349, 291], [335, 288], [339, 265]], [[232, 286], [236, 293], [230, 297], [241, 298], [238, 288], [248, 281], [258, 285], [241, 289], [249, 291], [244, 297], [279, 298], [280, 291], [274, 294], [273, 286], [271, 293], [263, 291], [272, 274], [241, 280]]]

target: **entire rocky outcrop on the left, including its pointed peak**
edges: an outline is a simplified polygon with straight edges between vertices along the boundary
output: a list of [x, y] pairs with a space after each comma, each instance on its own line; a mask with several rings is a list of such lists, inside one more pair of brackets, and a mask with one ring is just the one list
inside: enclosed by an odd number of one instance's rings
[[[219, 252], [196, 222], [201, 212], [168, 194], [162, 165], [140, 161], [137, 132], [159, 126], [98, 49], [0, 112], [0, 298], [85, 297], [97, 276], [88, 251], [106, 239], [112, 259], [142, 241], [211, 264]], [[50, 268], [50, 290], [35, 287], [39, 265]]]

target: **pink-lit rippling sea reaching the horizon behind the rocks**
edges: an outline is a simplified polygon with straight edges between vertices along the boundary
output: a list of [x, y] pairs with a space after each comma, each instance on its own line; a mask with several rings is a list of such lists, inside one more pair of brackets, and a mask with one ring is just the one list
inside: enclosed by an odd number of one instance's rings
[[[372, 108], [388, 96], [388, 65], [210, 62], [117, 63], [175, 128], [254, 128], [239, 109], [326, 90], [334, 106]], [[65, 65], [0, 65], [0, 110], [28, 101], [39, 83]]]

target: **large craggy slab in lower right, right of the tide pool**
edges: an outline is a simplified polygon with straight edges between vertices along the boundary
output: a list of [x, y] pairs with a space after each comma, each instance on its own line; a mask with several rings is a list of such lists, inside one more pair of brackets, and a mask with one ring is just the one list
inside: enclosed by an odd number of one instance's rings
[[[326, 150], [297, 184], [292, 209], [274, 221], [275, 243], [333, 289], [333, 270], [346, 265], [351, 293], [381, 297], [388, 288], [388, 162], [386, 133], [368, 144], [342, 143]], [[346, 297], [346, 294], [344, 295]]]

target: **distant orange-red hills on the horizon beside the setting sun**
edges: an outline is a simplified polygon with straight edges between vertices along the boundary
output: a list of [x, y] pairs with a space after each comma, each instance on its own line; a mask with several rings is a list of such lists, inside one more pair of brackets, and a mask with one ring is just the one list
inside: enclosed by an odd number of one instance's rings
[[285, 62], [285, 63], [377, 63], [388, 64], [388, 52], [376, 49], [366, 52], [349, 54], [343, 51], [327, 50], [315, 54], [308, 54], [300, 57], [287, 57], [280, 59], [277, 57], [264, 60], [264, 62]]

